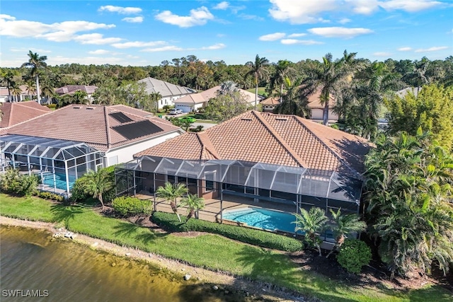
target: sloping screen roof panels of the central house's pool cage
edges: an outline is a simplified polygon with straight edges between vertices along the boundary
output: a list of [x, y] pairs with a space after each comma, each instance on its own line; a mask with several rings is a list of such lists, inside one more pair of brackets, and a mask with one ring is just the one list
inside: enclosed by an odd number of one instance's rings
[[334, 171], [237, 160], [182, 160], [142, 156], [117, 169], [175, 175], [231, 185], [360, 203], [362, 180]]

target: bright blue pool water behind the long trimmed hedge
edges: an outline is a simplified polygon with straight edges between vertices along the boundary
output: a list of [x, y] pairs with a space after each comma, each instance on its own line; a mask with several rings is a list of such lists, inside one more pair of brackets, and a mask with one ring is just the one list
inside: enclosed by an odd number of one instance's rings
[[293, 223], [296, 221], [293, 214], [257, 207], [224, 211], [223, 219], [247, 223], [248, 226], [270, 231], [278, 230], [294, 233], [296, 227], [296, 224]]

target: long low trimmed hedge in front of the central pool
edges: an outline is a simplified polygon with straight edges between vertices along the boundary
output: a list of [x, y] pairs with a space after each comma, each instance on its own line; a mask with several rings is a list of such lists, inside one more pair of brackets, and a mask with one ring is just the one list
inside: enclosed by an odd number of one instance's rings
[[200, 219], [189, 219], [181, 217], [183, 222], [179, 222], [176, 214], [169, 214], [156, 211], [151, 216], [152, 221], [167, 231], [199, 231], [215, 233], [243, 243], [259, 245], [263, 248], [273, 248], [275, 250], [285, 250], [295, 252], [302, 250], [302, 242], [291, 237], [282, 236], [267, 231], [254, 230], [241, 226], [229, 226], [226, 224], [214, 223]]

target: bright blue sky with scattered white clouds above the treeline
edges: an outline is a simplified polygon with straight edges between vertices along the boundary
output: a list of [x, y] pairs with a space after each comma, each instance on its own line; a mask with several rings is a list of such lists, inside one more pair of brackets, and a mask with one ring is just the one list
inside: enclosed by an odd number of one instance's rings
[[1, 0], [0, 66], [28, 50], [47, 64], [156, 66], [195, 55], [245, 64], [334, 58], [445, 59], [453, 0]]

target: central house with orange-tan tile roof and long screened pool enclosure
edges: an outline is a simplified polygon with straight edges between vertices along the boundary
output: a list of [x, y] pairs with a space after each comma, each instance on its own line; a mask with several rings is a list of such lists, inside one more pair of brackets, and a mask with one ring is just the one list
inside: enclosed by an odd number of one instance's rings
[[358, 213], [369, 149], [361, 137], [302, 117], [252, 110], [136, 153], [115, 168], [117, 194], [155, 194], [166, 182], [182, 182], [209, 201], [200, 215], [212, 221], [223, 221], [227, 200], [229, 208]]

